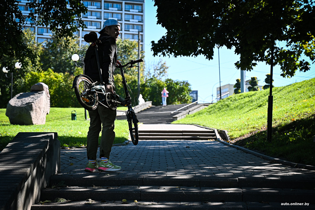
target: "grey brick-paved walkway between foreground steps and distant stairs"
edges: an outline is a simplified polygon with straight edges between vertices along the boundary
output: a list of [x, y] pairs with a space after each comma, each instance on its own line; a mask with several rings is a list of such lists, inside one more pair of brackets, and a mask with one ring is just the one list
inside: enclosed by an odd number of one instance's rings
[[[194, 125], [143, 124], [139, 130], [203, 129]], [[143, 140], [137, 146], [112, 147], [111, 161], [122, 167], [117, 173], [199, 175], [219, 177], [315, 178], [314, 171], [298, 169], [226, 146], [218, 141]], [[61, 174], [84, 172], [86, 149], [61, 150]], [[292, 176], [293, 177], [293, 176]]]

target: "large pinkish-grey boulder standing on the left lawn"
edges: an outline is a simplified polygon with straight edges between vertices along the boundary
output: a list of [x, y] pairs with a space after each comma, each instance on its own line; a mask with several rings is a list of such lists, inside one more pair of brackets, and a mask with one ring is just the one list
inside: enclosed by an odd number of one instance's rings
[[49, 107], [45, 91], [19, 93], [9, 101], [5, 115], [11, 124], [41, 125], [46, 123]]

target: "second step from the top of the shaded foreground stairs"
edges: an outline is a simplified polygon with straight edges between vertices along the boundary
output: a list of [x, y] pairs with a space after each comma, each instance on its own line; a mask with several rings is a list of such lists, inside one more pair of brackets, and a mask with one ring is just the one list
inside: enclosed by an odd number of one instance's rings
[[313, 201], [314, 190], [280, 188], [210, 188], [179, 186], [109, 186], [43, 189], [41, 201], [54, 198], [85, 201], [88, 199], [177, 201], [177, 202], [300, 202]]

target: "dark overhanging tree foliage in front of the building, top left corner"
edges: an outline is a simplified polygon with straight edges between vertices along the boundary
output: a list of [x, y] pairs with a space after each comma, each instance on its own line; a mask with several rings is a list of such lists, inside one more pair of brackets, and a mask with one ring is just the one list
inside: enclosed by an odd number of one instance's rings
[[0, 64], [12, 70], [14, 67], [8, 57], [23, 63], [24, 67], [28, 60], [36, 65], [36, 55], [23, 40], [22, 30], [27, 21], [49, 27], [58, 38], [72, 37], [78, 28], [85, 26], [80, 16], [87, 12], [87, 8], [81, 0], [28, 0], [26, 5], [29, 13], [23, 15], [17, 0], [2, 0], [0, 3]]

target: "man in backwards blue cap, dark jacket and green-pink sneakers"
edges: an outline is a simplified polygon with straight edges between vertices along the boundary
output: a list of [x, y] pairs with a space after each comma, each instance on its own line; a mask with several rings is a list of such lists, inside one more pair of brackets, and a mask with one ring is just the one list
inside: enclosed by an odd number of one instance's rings
[[[98, 54], [100, 68], [102, 69], [102, 80], [106, 84], [106, 92], [114, 93], [113, 72], [117, 63], [117, 45], [116, 41], [119, 36], [120, 24], [117, 20], [109, 19], [103, 24], [100, 33], [101, 44], [98, 44]], [[95, 62], [95, 49], [89, 46], [85, 59], [85, 75], [89, 76], [94, 82], [100, 81], [99, 70]], [[112, 144], [115, 139], [114, 122], [116, 119], [116, 110], [109, 109], [105, 106], [98, 106], [95, 110], [89, 111], [90, 127], [87, 136], [87, 157], [89, 162], [84, 171], [119, 171], [120, 166], [114, 165], [110, 160]], [[96, 162], [98, 149], [98, 139], [100, 139], [100, 165]]]

